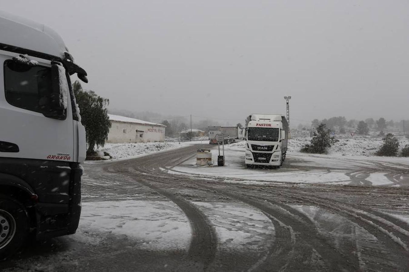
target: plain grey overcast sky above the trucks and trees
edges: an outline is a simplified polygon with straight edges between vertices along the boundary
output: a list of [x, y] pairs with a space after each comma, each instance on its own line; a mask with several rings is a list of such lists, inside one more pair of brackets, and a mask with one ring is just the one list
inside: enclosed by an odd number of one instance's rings
[[60, 33], [111, 108], [409, 117], [407, 0], [0, 3]]

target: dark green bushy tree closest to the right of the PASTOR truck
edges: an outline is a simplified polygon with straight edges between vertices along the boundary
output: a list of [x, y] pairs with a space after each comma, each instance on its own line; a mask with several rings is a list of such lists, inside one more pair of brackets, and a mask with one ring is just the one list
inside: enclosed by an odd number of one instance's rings
[[313, 133], [311, 144], [303, 146], [301, 152], [322, 154], [334, 143], [335, 138], [331, 136], [331, 130], [327, 129], [325, 124], [320, 124]]

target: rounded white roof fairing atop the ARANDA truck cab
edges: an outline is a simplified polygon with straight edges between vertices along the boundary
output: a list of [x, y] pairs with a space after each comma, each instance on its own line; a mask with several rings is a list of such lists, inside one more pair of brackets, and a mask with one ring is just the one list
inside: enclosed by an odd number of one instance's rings
[[44, 24], [0, 11], [0, 37], [2, 44], [18, 46], [64, 58], [68, 51], [58, 33]]

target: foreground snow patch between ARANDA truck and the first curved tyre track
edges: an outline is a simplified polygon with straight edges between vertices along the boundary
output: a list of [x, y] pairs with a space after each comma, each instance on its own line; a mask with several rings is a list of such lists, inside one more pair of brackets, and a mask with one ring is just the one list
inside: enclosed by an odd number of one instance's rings
[[126, 235], [137, 247], [161, 250], [184, 250], [191, 239], [189, 220], [170, 201], [83, 202], [73, 239], [83, 241], [84, 232]]

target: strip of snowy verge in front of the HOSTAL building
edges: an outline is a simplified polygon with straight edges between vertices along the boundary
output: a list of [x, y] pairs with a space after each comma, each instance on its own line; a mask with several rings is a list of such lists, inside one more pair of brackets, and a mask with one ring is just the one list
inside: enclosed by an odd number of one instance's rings
[[173, 148], [181, 148], [185, 144], [179, 142], [164, 142], [164, 143], [125, 143], [125, 144], [105, 144], [97, 152], [106, 152], [112, 159], [126, 159], [137, 157], [142, 154], [149, 154]]

